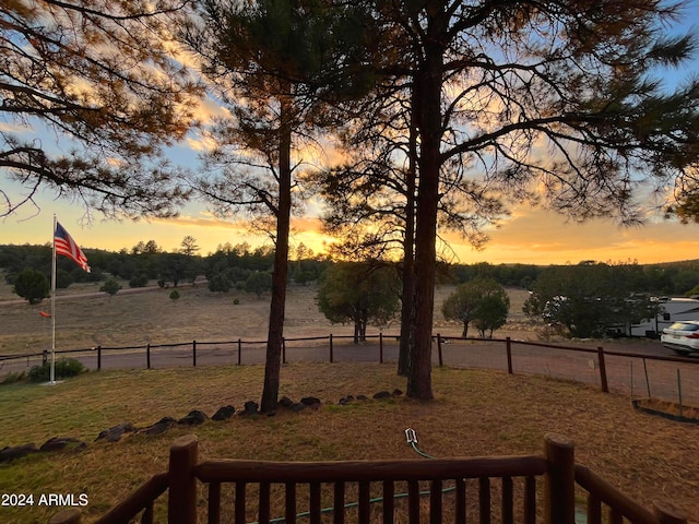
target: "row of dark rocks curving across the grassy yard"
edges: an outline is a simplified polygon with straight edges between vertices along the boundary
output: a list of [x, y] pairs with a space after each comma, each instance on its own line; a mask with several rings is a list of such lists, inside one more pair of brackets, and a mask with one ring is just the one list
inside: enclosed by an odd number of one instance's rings
[[[372, 398], [381, 400], [381, 398], [390, 398], [395, 396], [401, 396], [403, 392], [401, 390], [393, 390], [393, 392], [380, 391], [374, 395]], [[347, 395], [340, 398], [337, 404], [344, 406], [346, 404], [351, 404], [353, 402], [367, 402], [369, 401], [368, 396], [365, 395]], [[322, 402], [320, 398], [315, 396], [306, 396], [301, 398], [299, 402], [294, 402], [288, 396], [283, 396], [279, 401], [279, 406], [281, 408], [288, 409], [291, 412], [297, 413], [304, 409], [318, 409], [322, 406]], [[253, 417], [260, 415], [260, 405], [254, 401], [249, 401], [244, 404], [242, 409], [236, 412], [236, 408], [232, 405], [220, 407], [218, 410], [211, 417], [212, 420], [228, 420], [237, 413], [240, 417]], [[273, 416], [275, 413], [269, 413], [268, 416]], [[99, 440], [104, 440], [105, 442], [118, 442], [125, 434], [161, 434], [167, 431], [175, 426], [197, 426], [203, 424], [209, 419], [209, 416], [199, 409], [193, 409], [189, 412], [185, 417], [180, 419], [175, 419], [173, 417], [164, 417], [161, 418], [155, 424], [151, 426], [146, 426], [145, 428], [138, 429], [131, 422], [123, 422], [112, 426], [111, 428], [105, 429], [100, 431], [95, 442]], [[51, 451], [61, 451], [61, 450], [82, 450], [86, 448], [87, 444], [78, 439], [66, 438], [66, 437], [54, 437], [52, 439], [47, 440], [44, 444], [37, 448], [36, 444], [23, 444], [16, 446], [8, 446], [0, 450], [0, 463], [11, 462], [15, 458], [21, 458], [31, 453], [39, 453], [39, 452], [51, 452]]]

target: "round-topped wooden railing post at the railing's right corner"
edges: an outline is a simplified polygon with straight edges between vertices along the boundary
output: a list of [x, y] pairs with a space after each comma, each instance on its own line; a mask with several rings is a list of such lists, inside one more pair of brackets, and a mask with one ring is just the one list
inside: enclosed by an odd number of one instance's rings
[[576, 522], [576, 457], [573, 443], [559, 434], [545, 437], [548, 472], [545, 477], [546, 524]]

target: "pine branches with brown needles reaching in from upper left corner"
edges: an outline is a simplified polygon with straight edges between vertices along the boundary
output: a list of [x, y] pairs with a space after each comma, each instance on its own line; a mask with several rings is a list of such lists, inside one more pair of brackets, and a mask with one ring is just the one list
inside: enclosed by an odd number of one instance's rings
[[[179, 0], [37, 0], [0, 4], [2, 215], [42, 188], [107, 215], [170, 215], [186, 194], [161, 146], [193, 123], [201, 88], [176, 59]], [[38, 122], [38, 123], [37, 123]], [[70, 147], [35, 140], [48, 127]], [[66, 154], [57, 151], [68, 151]], [[17, 192], [20, 193], [20, 192]]]

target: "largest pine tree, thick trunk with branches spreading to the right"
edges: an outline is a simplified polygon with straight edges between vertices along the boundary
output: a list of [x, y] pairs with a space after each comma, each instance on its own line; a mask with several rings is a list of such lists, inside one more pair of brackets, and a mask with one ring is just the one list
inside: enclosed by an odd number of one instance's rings
[[[418, 187], [415, 329], [407, 396], [431, 398], [431, 319], [443, 174], [503, 195], [543, 196], [577, 221], [640, 221], [633, 189], [685, 177], [699, 158], [699, 82], [663, 88], [657, 72], [696, 50], [662, 24], [656, 0], [377, 0], [383, 52], [414, 90]], [[548, 150], [544, 152], [545, 150]], [[535, 188], [535, 189], [532, 189]]]

